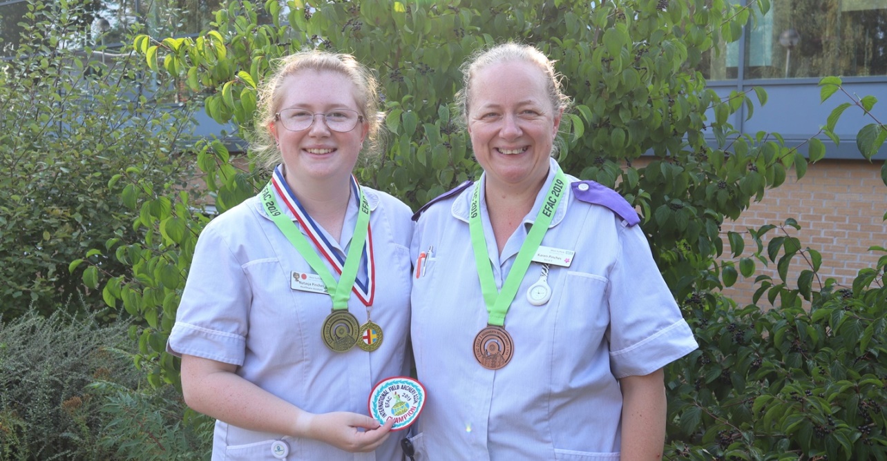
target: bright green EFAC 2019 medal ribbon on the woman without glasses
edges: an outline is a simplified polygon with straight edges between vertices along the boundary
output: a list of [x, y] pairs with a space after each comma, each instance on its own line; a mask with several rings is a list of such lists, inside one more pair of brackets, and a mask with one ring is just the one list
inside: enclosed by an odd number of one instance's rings
[[502, 292], [499, 293], [496, 288], [496, 280], [493, 277], [490, 256], [487, 253], [487, 241], [483, 237], [483, 224], [481, 223], [481, 184], [475, 186], [475, 193], [471, 197], [471, 213], [468, 216], [468, 228], [471, 230], [471, 246], [475, 251], [475, 264], [477, 265], [477, 277], [481, 281], [481, 292], [483, 293], [483, 301], [487, 305], [487, 312], [490, 317], [488, 324], [503, 326], [505, 324], [505, 316], [508, 309], [514, 301], [514, 295], [521, 286], [523, 276], [527, 274], [532, 262], [533, 255], [542, 244], [542, 238], [546, 236], [548, 226], [552, 223], [554, 211], [557, 210], [561, 203], [563, 191], [567, 184], [567, 177], [564, 176], [561, 168], [557, 169], [554, 174], [554, 180], [548, 187], [546, 201], [539, 209], [536, 220], [530, 227], [530, 233], [521, 245], [521, 250], [517, 253], [514, 265], [508, 272], [505, 283], [502, 284]]

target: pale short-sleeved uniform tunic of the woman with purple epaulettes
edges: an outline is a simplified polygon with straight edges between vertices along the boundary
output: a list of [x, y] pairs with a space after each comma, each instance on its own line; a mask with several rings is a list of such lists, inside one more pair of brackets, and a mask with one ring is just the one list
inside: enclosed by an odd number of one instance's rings
[[[558, 168], [554, 160], [551, 166], [501, 257], [481, 194], [499, 290], [543, 205]], [[433, 248], [412, 286], [413, 354], [428, 391], [414, 445], [425, 459], [616, 461], [618, 379], [648, 374], [686, 355], [697, 347], [693, 334], [640, 228], [608, 207], [577, 199], [574, 187], [587, 190], [587, 184], [569, 177], [572, 187], [542, 246], [574, 251], [572, 261], [550, 266], [552, 296], [541, 306], [526, 297], [542, 272], [541, 265], [530, 265], [505, 318], [513, 358], [499, 370], [483, 368], [473, 341], [488, 313], [468, 230], [473, 187], [483, 187], [483, 180], [428, 207], [412, 238], [414, 260]]]

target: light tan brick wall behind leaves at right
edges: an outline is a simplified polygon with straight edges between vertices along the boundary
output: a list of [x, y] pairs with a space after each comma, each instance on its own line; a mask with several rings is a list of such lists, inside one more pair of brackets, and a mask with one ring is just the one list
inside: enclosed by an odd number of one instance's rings
[[[640, 168], [647, 163], [635, 162]], [[810, 247], [822, 255], [820, 280], [834, 277], [839, 285], [851, 286], [860, 269], [874, 267], [882, 254], [868, 252], [869, 246], [887, 247], [887, 186], [881, 180], [883, 161], [869, 163], [865, 160], [820, 160], [810, 165], [805, 176], [798, 181], [794, 169], [789, 171], [784, 184], [765, 192], [764, 199], [752, 202], [749, 209], [735, 221], [721, 226], [724, 237], [724, 257], [730, 257], [726, 232], [733, 230], [747, 234], [747, 229], [757, 229], [765, 224], [780, 225], [794, 218], [800, 230], [787, 228], [789, 235], [797, 237], [802, 247]], [[779, 231], [779, 233], [777, 233]], [[767, 238], [785, 235], [781, 230], [771, 230]], [[755, 246], [745, 239], [742, 256], [750, 256]], [[764, 242], [766, 248], [766, 241]], [[737, 261], [738, 263], [738, 261]], [[755, 274], [745, 279], [742, 275], [735, 285], [724, 293], [740, 306], [751, 302], [756, 285], [754, 278], [760, 274], [773, 277], [778, 283], [776, 263], [764, 267], [756, 261]], [[789, 266], [789, 285], [797, 284], [801, 270], [809, 269], [796, 256]], [[738, 264], [737, 264], [738, 270]], [[816, 280], [813, 282], [814, 288]], [[763, 300], [766, 303], [766, 299]]]

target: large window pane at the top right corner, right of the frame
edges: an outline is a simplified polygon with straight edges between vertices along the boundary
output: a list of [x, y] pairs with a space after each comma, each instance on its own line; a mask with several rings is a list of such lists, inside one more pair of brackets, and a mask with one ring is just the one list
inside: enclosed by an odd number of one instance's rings
[[746, 78], [887, 74], [887, 0], [774, 0], [746, 37]]

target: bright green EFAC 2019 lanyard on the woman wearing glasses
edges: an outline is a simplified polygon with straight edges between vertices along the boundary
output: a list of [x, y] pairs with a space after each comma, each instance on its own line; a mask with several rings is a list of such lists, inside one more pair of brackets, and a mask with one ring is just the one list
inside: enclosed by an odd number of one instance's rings
[[370, 206], [366, 201], [364, 191], [360, 191], [357, 224], [354, 227], [354, 236], [351, 238], [351, 246], [348, 249], [348, 255], [345, 257], [345, 266], [341, 270], [338, 284], [333, 274], [326, 268], [326, 264], [318, 256], [317, 251], [311, 246], [308, 239], [302, 235], [302, 232], [296, 228], [293, 220], [280, 211], [277, 200], [274, 199], [274, 191], [271, 190], [271, 183], [268, 183], [262, 190], [262, 205], [265, 207], [265, 213], [277, 224], [278, 229], [287, 237], [289, 243], [293, 244], [295, 250], [302, 255], [302, 258], [305, 258], [311, 269], [317, 272], [318, 276], [324, 281], [326, 293], [334, 293], [330, 294], [333, 297], [333, 310], [348, 310], [351, 287], [354, 285], [354, 281], [357, 280], [360, 256], [363, 253], [366, 242], [366, 229], [370, 223]]

